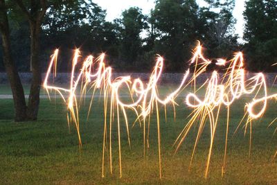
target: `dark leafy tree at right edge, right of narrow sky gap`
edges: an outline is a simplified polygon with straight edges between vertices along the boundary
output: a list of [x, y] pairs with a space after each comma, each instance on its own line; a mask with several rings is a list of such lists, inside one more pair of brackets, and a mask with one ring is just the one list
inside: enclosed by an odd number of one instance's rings
[[247, 68], [272, 71], [277, 62], [277, 1], [249, 0], [244, 10]]

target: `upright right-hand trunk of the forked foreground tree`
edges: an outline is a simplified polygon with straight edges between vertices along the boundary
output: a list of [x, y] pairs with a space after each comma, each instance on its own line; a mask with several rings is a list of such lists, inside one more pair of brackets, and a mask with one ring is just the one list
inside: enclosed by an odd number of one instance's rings
[[37, 120], [37, 113], [39, 111], [39, 92], [42, 83], [42, 67], [39, 61], [39, 33], [40, 24], [37, 21], [30, 22], [30, 66], [33, 78], [28, 99], [28, 120]]

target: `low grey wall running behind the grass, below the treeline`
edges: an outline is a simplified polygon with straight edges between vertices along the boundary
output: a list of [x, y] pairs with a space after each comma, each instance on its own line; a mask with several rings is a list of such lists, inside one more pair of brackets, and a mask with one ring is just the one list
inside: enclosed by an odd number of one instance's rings
[[[223, 74], [220, 74], [221, 76]], [[249, 79], [251, 76], [255, 75], [255, 73], [247, 73], [246, 79]], [[19, 76], [21, 78], [21, 82], [24, 84], [29, 84], [32, 79], [31, 73], [19, 73]], [[43, 74], [44, 79], [45, 73]], [[71, 73], [57, 73], [57, 76], [55, 78], [55, 83], [57, 84], [66, 84], [70, 80]], [[75, 76], [78, 76], [77, 73], [75, 73]], [[140, 78], [141, 80], [147, 82], [150, 76], [150, 73], [114, 73], [113, 78], [116, 78], [118, 76], [132, 76], [132, 78]], [[265, 73], [267, 84], [272, 85], [274, 82], [274, 79], [276, 78], [276, 73]], [[162, 73], [161, 76], [161, 83], [162, 84], [179, 84], [181, 80], [184, 77], [184, 73]], [[50, 77], [53, 79], [53, 76]], [[197, 77], [197, 84], [202, 84], [206, 82], [208, 78], [211, 78], [211, 73], [203, 73], [201, 76]], [[0, 73], [0, 85], [7, 84], [8, 78], [6, 76], [6, 73]], [[274, 82], [274, 85], [276, 85], [276, 82]]]

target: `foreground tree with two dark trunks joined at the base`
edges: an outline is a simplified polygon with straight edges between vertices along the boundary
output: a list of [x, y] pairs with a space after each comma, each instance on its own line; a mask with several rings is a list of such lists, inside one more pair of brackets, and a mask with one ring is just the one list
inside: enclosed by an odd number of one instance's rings
[[[8, 8], [6, 6], [8, 3]], [[92, 3], [92, 2], [90, 2]], [[39, 92], [40, 85], [42, 82], [42, 65], [39, 60], [40, 46], [39, 39], [42, 33], [42, 22], [44, 20], [46, 10], [54, 12], [58, 10], [67, 10], [66, 8], [75, 8], [80, 10], [87, 4], [87, 1], [54, 1], [54, 0], [1, 0], [1, 35], [3, 45], [3, 56], [4, 64], [10, 84], [12, 87], [12, 93], [15, 101], [15, 120], [36, 120], [39, 109]], [[85, 9], [85, 7], [81, 8]], [[98, 10], [100, 10], [98, 8]], [[30, 94], [28, 98], [28, 106], [26, 106], [24, 91], [20, 82], [19, 75], [17, 73], [17, 67], [15, 62], [12, 60], [12, 49], [10, 47], [10, 28], [8, 23], [8, 15], [12, 19], [12, 22], [18, 21], [22, 15], [25, 15], [28, 21], [30, 30], [30, 68], [33, 73], [33, 78], [30, 86]], [[81, 13], [79, 14], [81, 15]], [[91, 18], [94, 16], [93, 13], [89, 15]], [[73, 25], [77, 25], [80, 21], [84, 22], [87, 19], [87, 15], [82, 15], [82, 19], [75, 19]], [[20, 20], [22, 21], [22, 20]], [[72, 25], [72, 24], [71, 24]]]

